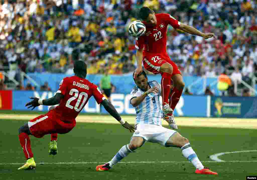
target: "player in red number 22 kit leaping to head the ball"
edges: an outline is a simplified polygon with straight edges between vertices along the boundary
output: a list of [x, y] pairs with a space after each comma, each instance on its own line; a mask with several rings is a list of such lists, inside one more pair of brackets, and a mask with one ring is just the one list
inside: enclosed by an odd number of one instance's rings
[[[139, 18], [143, 20], [142, 22], [145, 24], [146, 32], [144, 36], [136, 38], [137, 68], [134, 78], [142, 72], [142, 61], [146, 70], [153, 74], [160, 73], [162, 75], [163, 116], [172, 128], [177, 129], [173, 118], [173, 110], [180, 99], [185, 83], [177, 65], [171, 61], [166, 52], [168, 24], [172, 25], [175, 29], [201, 36], [205, 39], [216, 37], [214, 33], [202, 33], [189, 25], [183, 24], [169, 14], [155, 14], [148, 7], [140, 8]], [[169, 100], [171, 79], [174, 82], [174, 88]]]

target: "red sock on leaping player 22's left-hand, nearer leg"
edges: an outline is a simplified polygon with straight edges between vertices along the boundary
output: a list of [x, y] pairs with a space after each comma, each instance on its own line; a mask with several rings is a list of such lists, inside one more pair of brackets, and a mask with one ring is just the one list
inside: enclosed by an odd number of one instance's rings
[[171, 74], [163, 73], [161, 78], [162, 104], [169, 104]]

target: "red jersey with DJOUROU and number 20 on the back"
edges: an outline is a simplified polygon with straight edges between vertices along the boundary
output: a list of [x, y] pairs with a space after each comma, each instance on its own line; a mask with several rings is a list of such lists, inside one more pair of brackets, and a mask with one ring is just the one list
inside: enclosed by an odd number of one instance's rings
[[61, 119], [70, 122], [74, 121], [91, 96], [94, 96], [98, 104], [105, 99], [95, 84], [78, 76], [64, 78], [57, 93], [62, 93], [64, 98], [53, 111], [60, 115]]

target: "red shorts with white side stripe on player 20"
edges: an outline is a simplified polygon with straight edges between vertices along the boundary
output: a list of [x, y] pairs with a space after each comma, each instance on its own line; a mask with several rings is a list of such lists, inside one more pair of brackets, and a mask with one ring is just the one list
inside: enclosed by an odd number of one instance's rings
[[63, 122], [60, 117], [49, 111], [29, 121], [28, 125], [33, 136], [42, 138], [46, 134], [66, 134], [75, 127], [76, 121], [74, 119], [71, 123]]

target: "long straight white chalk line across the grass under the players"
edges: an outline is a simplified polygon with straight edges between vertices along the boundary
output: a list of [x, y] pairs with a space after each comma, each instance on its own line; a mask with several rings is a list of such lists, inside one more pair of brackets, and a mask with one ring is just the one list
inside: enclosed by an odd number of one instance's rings
[[[187, 163], [189, 161], [129, 161], [129, 162], [118, 162], [118, 163]], [[201, 162], [257, 162], [257, 161], [201, 161]], [[104, 164], [106, 162], [38, 162], [36, 164]], [[0, 165], [15, 165], [24, 163], [0, 163]]]

